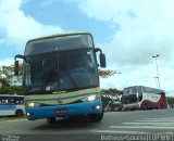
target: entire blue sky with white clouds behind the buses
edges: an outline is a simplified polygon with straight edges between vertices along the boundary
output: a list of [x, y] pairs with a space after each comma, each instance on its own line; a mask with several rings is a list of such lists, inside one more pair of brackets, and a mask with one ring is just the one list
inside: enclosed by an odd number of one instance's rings
[[160, 88], [174, 97], [173, 25], [173, 0], [0, 0], [0, 66], [13, 64], [29, 39], [88, 31], [117, 72], [101, 88], [158, 88], [158, 64]]

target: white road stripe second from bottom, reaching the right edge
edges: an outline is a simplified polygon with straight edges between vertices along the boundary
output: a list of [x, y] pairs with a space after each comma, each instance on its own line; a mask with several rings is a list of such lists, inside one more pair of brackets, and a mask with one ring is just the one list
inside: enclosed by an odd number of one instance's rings
[[174, 127], [167, 127], [167, 126], [109, 126], [109, 128], [117, 128], [117, 129], [173, 129]]

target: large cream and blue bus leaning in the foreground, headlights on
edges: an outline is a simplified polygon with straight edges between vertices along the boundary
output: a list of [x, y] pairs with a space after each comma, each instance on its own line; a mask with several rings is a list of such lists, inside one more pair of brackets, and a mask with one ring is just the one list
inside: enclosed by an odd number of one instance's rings
[[[98, 52], [98, 53], [97, 53]], [[98, 56], [98, 57], [97, 57]], [[95, 48], [89, 33], [53, 35], [29, 40], [23, 59], [23, 88], [29, 120], [88, 116], [103, 117], [98, 66], [105, 67], [105, 55]]]

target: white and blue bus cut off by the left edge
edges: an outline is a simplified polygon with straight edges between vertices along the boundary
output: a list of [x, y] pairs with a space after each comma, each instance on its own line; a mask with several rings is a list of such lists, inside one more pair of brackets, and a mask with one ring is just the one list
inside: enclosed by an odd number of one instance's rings
[[20, 117], [24, 114], [24, 95], [0, 94], [0, 116]]

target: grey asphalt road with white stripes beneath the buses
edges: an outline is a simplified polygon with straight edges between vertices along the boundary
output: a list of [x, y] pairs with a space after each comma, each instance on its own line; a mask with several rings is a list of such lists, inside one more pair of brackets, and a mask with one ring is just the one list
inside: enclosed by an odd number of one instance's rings
[[[105, 113], [101, 123], [88, 119], [0, 118], [2, 141], [173, 140], [174, 110]], [[174, 140], [173, 140], [174, 141]]]

